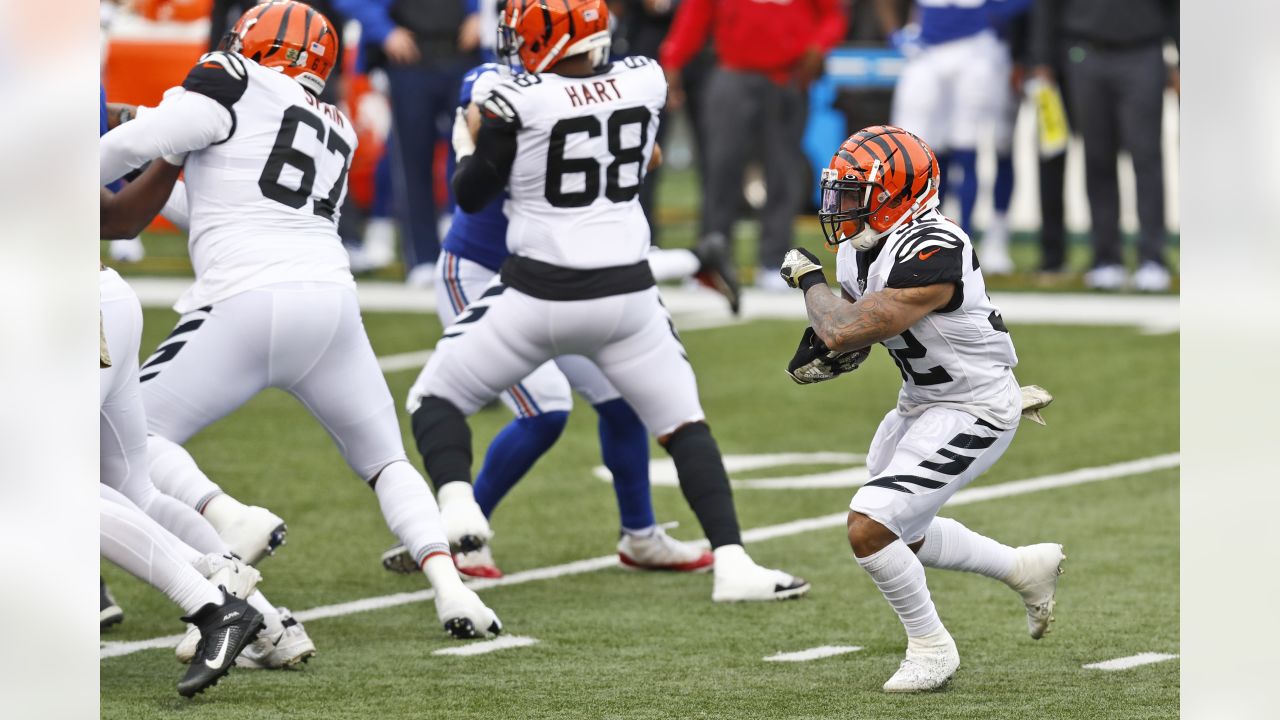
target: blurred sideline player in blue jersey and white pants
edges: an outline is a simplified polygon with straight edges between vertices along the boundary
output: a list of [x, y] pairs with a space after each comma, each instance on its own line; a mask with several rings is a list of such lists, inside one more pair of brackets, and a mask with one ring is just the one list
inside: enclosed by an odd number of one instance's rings
[[[887, 6], [892, 0], [879, 3]], [[1009, 102], [1009, 50], [1000, 42], [996, 26], [1025, 12], [1030, 0], [919, 0], [915, 5], [918, 24], [904, 24], [891, 36], [908, 58], [893, 92], [892, 124], [933, 147], [942, 165], [940, 195], [945, 199], [955, 192], [960, 227], [972, 236], [978, 201], [978, 138], [996, 129]], [[1006, 181], [1011, 195], [1011, 176], [1006, 174]], [[1007, 231], [1001, 234], [997, 227], [992, 237], [996, 242], [989, 246], [986, 238], [978, 245], [983, 269], [1012, 270]]]

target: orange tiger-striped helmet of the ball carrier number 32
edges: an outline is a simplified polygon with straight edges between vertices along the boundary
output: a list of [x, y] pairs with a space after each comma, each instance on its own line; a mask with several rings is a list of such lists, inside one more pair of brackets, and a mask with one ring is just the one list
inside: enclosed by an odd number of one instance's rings
[[870, 250], [902, 223], [937, 208], [938, 159], [919, 137], [892, 126], [849, 136], [822, 170], [818, 222], [828, 245]]

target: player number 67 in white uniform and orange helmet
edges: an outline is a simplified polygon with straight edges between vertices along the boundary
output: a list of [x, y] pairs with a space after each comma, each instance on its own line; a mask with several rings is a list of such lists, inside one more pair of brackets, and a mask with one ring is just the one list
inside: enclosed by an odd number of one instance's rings
[[342, 111], [319, 100], [337, 51], [333, 26], [306, 4], [257, 5], [183, 90], [102, 138], [104, 181], [187, 154], [196, 282], [175, 305], [178, 327], [142, 366], [152, 471], [187, 438], [279, 387], [372, 488], [435, 588], [445, 630], [495, 634], [498, 618], [458, 578], [435, 498], [404, 455], [335, 229], [356, 143]]

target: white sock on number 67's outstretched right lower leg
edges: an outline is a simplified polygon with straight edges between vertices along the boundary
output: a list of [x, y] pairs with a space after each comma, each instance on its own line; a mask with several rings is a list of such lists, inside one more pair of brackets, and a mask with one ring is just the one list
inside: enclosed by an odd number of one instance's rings
[[[449, 555], [449, 541], [444, 537], [440, 507], [426, 488], [426, 480], [406, 460], [383, 468], [374, 484], [378, 505], [383, 509], [387, 527], [408, 548], [419, 568], [431, 553]], [[452, 560], [449, 560], [452, 564]]]

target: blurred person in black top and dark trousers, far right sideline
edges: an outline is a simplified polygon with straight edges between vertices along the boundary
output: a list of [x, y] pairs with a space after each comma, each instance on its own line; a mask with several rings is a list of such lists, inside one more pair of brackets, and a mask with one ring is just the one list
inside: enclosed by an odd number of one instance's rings
[[[1165, 165], [1161, 155], [1165, 86], [1164, 44], [1178, 41], [1178, 0], [1041, 0], [1033, 15], [1032, 54], [1044, 82], [1062, 77], [1066, 101], [1084, 138], [1093, 264], [1087, 286], [1120, 290], [1125, 266], [1120, 242], [1116, 159], [1133, 159], [1138, 193], [1138, 270], [1133, 287], [1169, 288], [1165, 266]], [[1057, 74], [1053, 67], [1065, 68]]]

